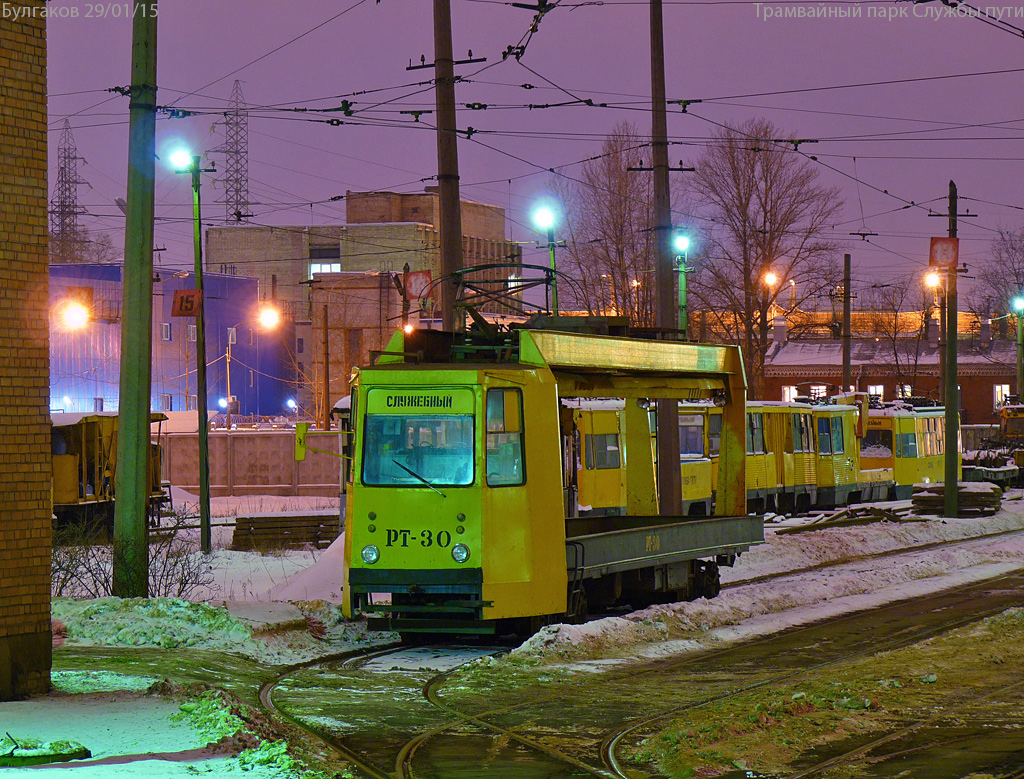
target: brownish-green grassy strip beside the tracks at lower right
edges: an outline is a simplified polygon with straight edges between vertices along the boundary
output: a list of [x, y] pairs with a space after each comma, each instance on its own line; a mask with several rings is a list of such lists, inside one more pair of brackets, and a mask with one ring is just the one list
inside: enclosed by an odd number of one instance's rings
[[[913, 647], [689, 709], [628, 756], [679, 777], [735, 768], [784, 773], [810, 748], [936, 712], [967, 717], [989, 690], [1019, 681], [1022, 641], [1024, 610], [1012, 609]], [[1017, 720], [1024, 725], [1024, 715]]]

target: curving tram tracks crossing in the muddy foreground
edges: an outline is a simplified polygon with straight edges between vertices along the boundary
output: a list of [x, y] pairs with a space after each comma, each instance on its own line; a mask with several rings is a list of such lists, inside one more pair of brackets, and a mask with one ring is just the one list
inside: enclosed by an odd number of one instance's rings
[[[1015, 531], [1020, 532], [1020, 531]], [[1007, 535], [999, 533], [997, 535]], [[985, 536], [990, 539], [993, 536]], [[967, 539], [962, 544], [977, 543], [978, 538]], [[914, 547], [899, 552], [919, 552], [925, 549], [950, 545], [927, 545], [926, 547]], [[896, 552], [885, 554], [864, 555], [860, 560], [872, 560], [890, 557]], [[848, 561], [844, 561], [848, 562]], [[820, 564], [808, 570], [820, 570], [828, 567], [829, 564]], [[790, 571], [786, 575], [793, 575]], [[765, 580], [771, 577], [761, 577], [758, 580]], [[746, 580], [737, 583], [752, 583]], [[1008, 593], [1004, 598], [995, 598], [988, 607], [979, 607], [979, 594], [991, 591], [993, 587], [1000, 588], [1000, 592]], [[838, 652], [831, 656], [821, 659], [818, 662], [805, 663], [786, 667], [776, 673], [761, 675], [757, 679], [751, 679], [744, 683], [726, 681], [720, 684], [705, 685], [701, 689], [709, 691], [702, 696], [695, 696], [672, 706], [658, 706], [656, 711], [648, 712], [642, 718], [622, 721], [620, 711], [613, 715], [601, 711], [598, 701], [602, 696], [602, 690], [614, 691], [613, 697], [620, 695], [620, 691], [630, 687], [639, 688], [651, 686], [657, 689], [663, 686], [662, 680], [670, 680], [683, 674], [700, 676], [703, 668], [711, 670], [722, 668], [734, 663], [738, 658], [750, 656], [758, 652], [771, 656], [770, 647], [784, 640], [786, 642], [800, 642], [802, 636], [814, 636], [824, 632], [825, 634], [837, 633], [847, 630], [845, 625], [853, 625], [858, 621], [864, 621], [864, 613], [847, 614], [823, 622], [815, 623], [805, 627], [792, 630], [782, 636], [772, 636], [759, 639], [754, 642], [713, 651], [698, 655], [686, 656], [674, 660], [666, 660], [659, 663], [645, 665], [642, 668], [631, 668], [626, 672], [614, 672], [601, 677], [600, 685], [593, 686], [587, 692], [594, 699], [593, 711], [599, 712], [594, 727], [586, 738], [580, 738], [579, 734], [573, 736], [570, 728], [566, 728], [564, 733], [558, 732], [558, 728], [550, 727], [551, 723], [557, 723], [564, 719], [563, 696], [565, 691], [556, 689], [550, 694], [525, 696], [523, 699], [512, 703], [503, 702], [499, 706], [481, 705], [480, 701], [461, 699], [458, 691], [447, 689], [453, 676], [471, 659], [465, 662], [456, 662], [451, 667], [428, 676], [425, 680], [417, 683], [418, 696], [422, 701], [429, 704], [432, 716], [427, 718], [427, 727], [420, 728], [417, 732], [407, 732], [403, 735], [386, 737], [386, 748], [374, 747], [370, 754], [365, 750], [366, 744], [353, 744], [352, 739], [342, 734], [333, 733], [323, 726], [310, 724], [308, 719], [303, 720], [301, 716], [294, 713], [274, 704], [272, 692], [284, 681], [297, 673], [308, 670], [316, 666], [338, 665], [349, 670], [357, 672], [367, 668], [368, 665], [377, 663], [394, 662], [399, 659], [402, 653], [408, 653], [408, 647], [388, 647], [375, 652], [349, 653], [325, 658], [286, 669], [276, 680], [264, 686], [260, 693], [260, 699], [264, 705], [271, 708], [278, 716], [287, 719], [295, 726], [302, 728], [305, 732], [321, 739], [328, 744], [341, 759], [354, 766], [361, 775], [380, 779], [383, 777], [401, 777], [411, 779], [413, 776], [460, 776], [472, 775], [461, 772], [453, 766], [444, 766], [441, 773], [437, 773], [434, 767], [441, 763], [453, 752], [462, 750], [465, 753], [466, 745], [472, 744], [470, 754], [500, 753], [512, 751], [516, 761], [516, 770], [520, 771], [524, 765], [528, 764], [531, 770], [525, 773], [516, 773], [516, 776], [601, 776], [601, 777], [636, 777], [638, 776], [635, 765], [624, 765], [623, 750], [629, 750], [643, 735], [656, 729], [655, 726], [671, 718], [684, 713], [688, 709], [709, 705], [716, 701], [722, 701], [729, 697], [742, 695], [744, 692], [764, 687], [767, 685], [782, 683], [799, 679], [807, 674], [820, 672], [828, 667], [841, 667], [855, 659], [870, 655], [876, 652], [889, 651], [901, 647], [911, 646], [918, 642], [927, 640], [933, 636], [948, 632], [956, 626], [981, 619], [982, 617], [997, 613], [1005, 609], [1008, 603], [1019, 603], [1019, 595], [1009, 595], [1016, 590], [1024, 590], [1024, 579], [1019, 575], [1007, 575], [995, 580], [986, 580], [974, 585], [968, 585], [943, 593], [929, 596], [913, 602], [914, 608], [922, 614], [940, 613], [948, 609], [950, 602], [972, 604], [971, 613], [958, 619], [950, 620], [946, 618], [929, 620], [928, 622], [914, 625], [912, 622], [895, 632], [892, 638], [879, 641], [874, 637], [867, 637], [861, 640], [856, 646], [850, 647], [846, 651]], [[945, 604], [945, 605], [942, 605]], [[907, 609], [906, 604], [892, 604], [890, 606], [877, 609], [870, 612], [871, 618], [888, 620], [895, 619], [896, 615]], [[810, 638], [807, 639], [811, 641]], [[813, 642], [812, 642], [813, 643]], [[422, 648], [420, 649], [422, 651]], [[492, 648], [493, 652], [501, 651]], [[479, 655], [477, 655], [479, 656]], [[668, 683], [665, 683], [668, 686]], [[416, 691], [407, 691], [412, 694]], [[573, 689], [575, 694], [579, 690]], [[996, 691], [997, 692], [997, 691]], [[586, 697], [586, 696], [585, 696]], [[586, 710], [586, 703], [577, 706], [577, 710]], [[386, 712], [385, 712], [386, 713]], [[560, 716], [561, 715], [561, 716]], [[603, 721], [602, 721], [603, 720]], [[426, 722], [426, 721], [425, 721]], [[928, 720], [911, 724], [898, 733], [888, 734], [885, 738], [879, 739], [873, 745], [881, 746], [883, 743], [899, 741], [908, 733], [921, 730], [930, 726]], [[591, 746], [582, 743], [590, 742]], [[593, 744], [598, 744], [597, 748]], [[489, 745], [489, 746], [487, 746]], [[458, 747], [458, 748], [457, 748]], [[828, 762], [822, 762], [820, 766], [805, 769], [801, 776], [811, 776], [821, 773], [838, 762], [846, 760], [852, 762], [864, 752], [864, 748], [851, 751], [845, 758], [839, 755]]]

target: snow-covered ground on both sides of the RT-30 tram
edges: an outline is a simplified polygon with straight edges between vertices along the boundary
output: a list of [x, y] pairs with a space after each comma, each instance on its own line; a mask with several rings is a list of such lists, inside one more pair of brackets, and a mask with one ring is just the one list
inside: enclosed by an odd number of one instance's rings
[[[609, 664], [684, 652], [737, 641], [820, 619], [845, 611], [915, 594], [934, 592], [962, 581], [976, 580], [1024, 566], [1024, 539], [984, 536], [1024, 529], [1024, 501], [1009, 493], [1004, 508], [992, 517], [920, 522], [874, 523], [845, 528], [777, 534], [766, 526], [766, 544], [744, 554], [735, 568], [723, 569], [723, 582], [732, 583], [712, 600], [656, 606], [585, 625], [553, 625], [515, 650], [544, 662], [571, 662], [599, 670]], [[301, 508], [272, 499], [219, 499], [215, 516], [252, 511]], [[325, 499], [305, 508], [325, 509]], [[248, 504], [248, 505], [247, 505]], [[335, 502], [335, 506], [337, 502]], [[272, 506], [272, 508], [270, 508]], [[241, 508], [240, 508], [241, 507]], [[920, 551], [884, 565], [857, 558], [889, 549], [923, 546], [942, 540], [978, 537], [971, 549]], [[229, 538], [215, 537], [215, 546]], [[54, 617], [65, 623], [67, 643], [55, 650], [74, 652], [76, 646], [150, 646], [213, 649], [236, 652], [267, 664], [283, 664], [337, 652], [371, 640], [360, 625], [338, 616], [342, 539], [324, 552], [287, 552], [275, 556], [218, 550], [209, 561], [214, 583], [198, 596], [203, 603], [172, 599], [125, 602], [56, 601]], [[840, 568], [795, 574], [772, 585], [743, 585], [766, 573], [797, 570], [818, 563], [846, 560]], [[197, 598], [194, 598], [197, 600]], [[58, 662], [59, 664], [59, 662]], [[126, 669], [130, 673], [130, 669]], [[78, 764], [76, 777], [179, 777], [197, 772], [227, 776], [242, 772], [237, 758], [204, 753], [209, 734], [187, 719], [171, 718], [178, 703], [138, 692], [152, 680], [81, 674], [54, 676], [58, 692], [29, 701], [0, 703], [0, 734], [48, 741], [82, 742], [100, 763]], [[103, 688], [106, 691], [103, 691]], [[62, 692], [59, 690], [63, 690]], [[90, 692], [82, 692], [90, 691]], [[138, 738], [140, 733], [156, 734]], [[216, 740], [216, 739], [214, 739]], [[142, 752], [163, 752], [146, 758]], [[120, 756], [119, 756], [120, 755]], [[19, 769], [26, 770], [26, 769]], [[36, 771], [70, 770], [57, 766]], [[0, 769], [0, 773], [5, 773]], [[248, 776], [285, 776], [280, 761], [247, 769]]]

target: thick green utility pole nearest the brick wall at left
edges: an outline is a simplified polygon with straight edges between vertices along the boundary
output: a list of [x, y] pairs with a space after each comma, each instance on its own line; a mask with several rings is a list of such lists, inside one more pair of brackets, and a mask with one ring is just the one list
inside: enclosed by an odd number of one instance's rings
[[128, 120], [128, 206], [118, 468], [114, 477], [113, 590], [122, 598], [150, 594], [150, 391], [153, 383], [153, 202], [157, 146], [157, 4], [132, 25]]

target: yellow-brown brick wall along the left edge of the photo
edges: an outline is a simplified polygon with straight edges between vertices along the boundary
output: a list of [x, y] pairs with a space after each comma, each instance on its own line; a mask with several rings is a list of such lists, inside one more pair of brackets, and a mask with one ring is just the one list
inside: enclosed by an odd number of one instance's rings
[[0, 73], [0, 700], [10, 700], [50, 686], [44, 18], [4, 19]]

